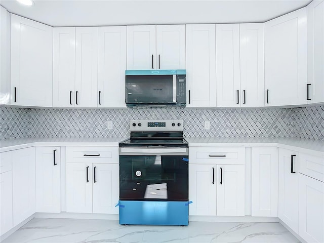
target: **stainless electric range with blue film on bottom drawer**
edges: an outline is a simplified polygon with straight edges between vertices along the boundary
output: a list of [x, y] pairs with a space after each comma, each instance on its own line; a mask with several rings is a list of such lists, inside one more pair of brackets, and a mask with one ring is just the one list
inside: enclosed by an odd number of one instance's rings
[[119, 223], [188, 225], [183, 120], [131, 120], [119, 143]]

